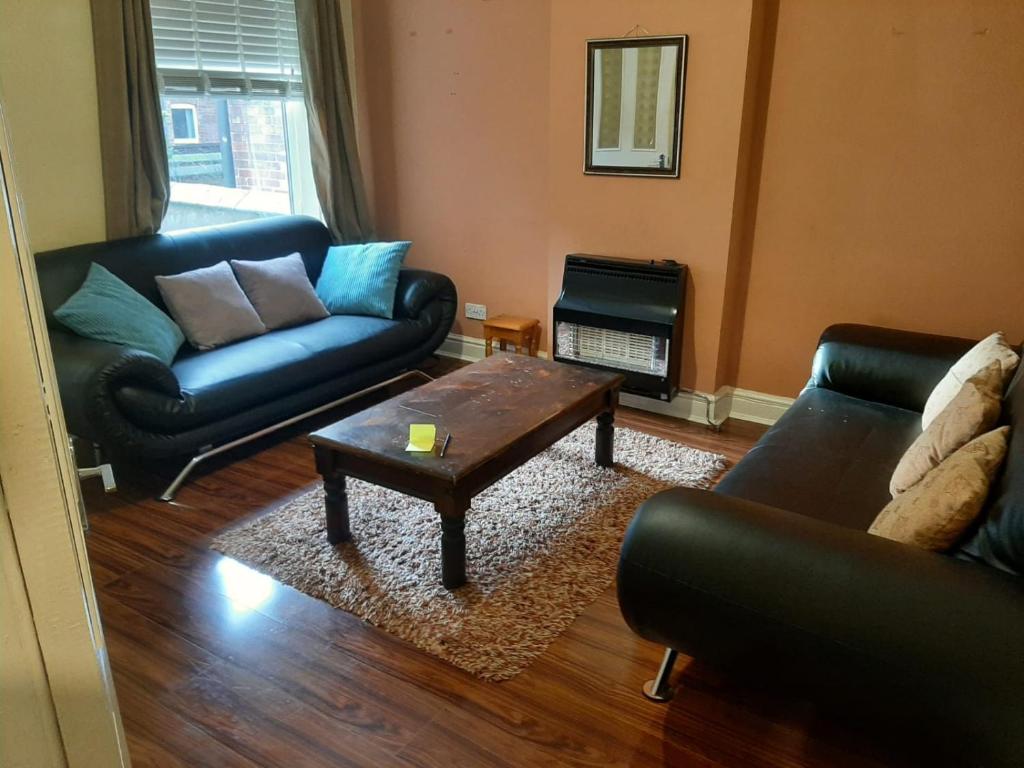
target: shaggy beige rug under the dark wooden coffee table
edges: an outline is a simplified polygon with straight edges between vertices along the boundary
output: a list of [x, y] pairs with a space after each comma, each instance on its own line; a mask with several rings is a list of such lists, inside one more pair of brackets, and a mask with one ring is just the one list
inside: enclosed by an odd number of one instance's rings
[[332, 547], [319, 488], [221, 532], [212, 547], [486, 680], [514, 677], [601, 594], [644, 499], [706, 487], [722, 456], [615, 430], [594, 464], [587, 424], [473, 499], [466, 574], [440, 584], [440, 523], [418, 499], [348, 482], [353, 540]]

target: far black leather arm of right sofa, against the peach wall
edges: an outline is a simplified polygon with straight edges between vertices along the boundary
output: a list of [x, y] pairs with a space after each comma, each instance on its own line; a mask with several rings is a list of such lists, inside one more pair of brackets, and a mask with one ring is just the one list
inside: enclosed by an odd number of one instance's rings
[[924, 411], [935, 385], [975, 343], [873, 326], [830, 326], [818, 341], [808, 386]]

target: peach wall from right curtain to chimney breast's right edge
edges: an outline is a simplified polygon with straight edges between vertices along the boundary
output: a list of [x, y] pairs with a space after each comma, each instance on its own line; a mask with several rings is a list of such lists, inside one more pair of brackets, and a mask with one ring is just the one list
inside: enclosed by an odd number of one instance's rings
[[[752, 2], [356, 0], [360, 141], [379, 234], [460, 300], [540, 317], [565, 254], [689, 264], [684, 384], [716, 387]], [[583, 174], [586, 41], [690, 35], [682, 178]], [[460, 311], [461, 315], [461, 311]], [[480, 336], [460, 316], [457, 333]], [[547, 339], [546, 339], [547, 341]]]

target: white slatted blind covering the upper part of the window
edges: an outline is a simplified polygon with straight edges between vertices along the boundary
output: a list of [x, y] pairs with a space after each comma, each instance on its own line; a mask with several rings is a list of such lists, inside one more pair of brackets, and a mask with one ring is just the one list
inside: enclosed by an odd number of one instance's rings
[[301, 93], [295, 0], [151, 0], [165, 93]]

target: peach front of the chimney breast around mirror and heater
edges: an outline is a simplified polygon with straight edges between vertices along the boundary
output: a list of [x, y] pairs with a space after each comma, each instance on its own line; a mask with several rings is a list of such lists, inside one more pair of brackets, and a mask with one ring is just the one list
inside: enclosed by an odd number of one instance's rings
[[[551, 3], [551, 211], [548, 305], [566, 253], [689, 265], [683, 384], [716, 388], [736, 203], [752, 3], [558, 0]], [[689, 35], [681, 178], [583, 174], [586, 41]]]

